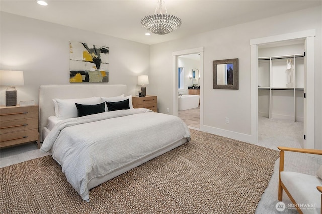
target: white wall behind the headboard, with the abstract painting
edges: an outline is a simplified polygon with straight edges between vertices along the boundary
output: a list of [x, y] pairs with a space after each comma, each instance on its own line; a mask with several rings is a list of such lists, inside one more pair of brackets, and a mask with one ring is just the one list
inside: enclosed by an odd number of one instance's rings
[[[38, 103], [39, 85], [69, 84], [70, 40], [108, 46], [107, 84], [126, 84], [129, 94], [138, 94], [137, 76], [149, 71], [149, 45], [0, 12], [0, 70], [24, 71], [17, 103]], [[0, 87], [0, 105], [5, 89]]]

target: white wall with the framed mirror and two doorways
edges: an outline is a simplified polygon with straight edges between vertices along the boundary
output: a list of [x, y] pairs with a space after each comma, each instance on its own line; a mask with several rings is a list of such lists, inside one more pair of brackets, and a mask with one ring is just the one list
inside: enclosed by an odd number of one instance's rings
[[[314, 7], [254, 22], [222, 28], [183, 39], [151, 45], [151, 89], [158, 95], [159, 111], [173, 114], [172, 53], [204, 47], [203, 52], [203, 130], [244, 141], [251, 135], [251, 47], [250, 40], [279, 34], [316, 29], [315, 37], [315, 142], [322, 148], [321, 105], [321, 7]], [[239, 58], [239, 90], [212, 88], [212, 61]], [[167, 83], [158, 81], [168, 78]], [[312, 109], [313, 110], [313, 109]], [[229, 117], [229, 124], [225, 123]]]

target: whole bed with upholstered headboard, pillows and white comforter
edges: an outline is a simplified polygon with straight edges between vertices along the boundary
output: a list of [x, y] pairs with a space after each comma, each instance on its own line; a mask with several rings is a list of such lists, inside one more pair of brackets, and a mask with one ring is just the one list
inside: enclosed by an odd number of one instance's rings
[[[41, 151], [61, 165], [85, 201], [90, 200], [90, 189], [190, 140], [180, 118], [134, 109], [126, 94], [126, 85], [40, 86]], [[74, 102], [82, 105], [77, 104], [76, 112], [66, 111]], [[120, 103], [128, 107], [113, 109]], [[83, 116], [78, 107], [100, 112]]]

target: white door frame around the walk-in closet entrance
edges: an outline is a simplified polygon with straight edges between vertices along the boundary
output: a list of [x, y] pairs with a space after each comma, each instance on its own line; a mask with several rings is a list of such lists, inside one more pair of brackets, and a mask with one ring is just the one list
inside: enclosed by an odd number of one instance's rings
[[[305, 40], [304, 148], [314, 149], [314, 36], [315, 29], [250, 40], [251, 45], [251, 138], [258, 142], [258, 46], [288, 40]], [[310, 109], [310, 111], [307, 111]], [[312, 109], [312, 110], [311, 110]]]

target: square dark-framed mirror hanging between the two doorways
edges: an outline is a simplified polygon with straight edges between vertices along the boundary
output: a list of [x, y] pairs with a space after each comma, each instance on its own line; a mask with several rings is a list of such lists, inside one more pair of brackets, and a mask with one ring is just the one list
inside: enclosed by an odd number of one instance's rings
[[238, 58], [212, 61], [214, 89], [238, 90]]

